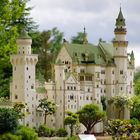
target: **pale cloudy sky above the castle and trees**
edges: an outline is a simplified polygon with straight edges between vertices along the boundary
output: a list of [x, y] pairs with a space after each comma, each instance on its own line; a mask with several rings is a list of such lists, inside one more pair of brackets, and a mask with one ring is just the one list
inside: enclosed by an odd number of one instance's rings
[[57, 27], [70, 40], [85, 26], [88, 41], [97, 45], [99, 38], [110, 42], [114, 38], [115, 20], [120, 5], [126, 20], [128, 52], [135, 54], [140, 66], [140, 0], [30, 0], [31, 17], [39, 30]]

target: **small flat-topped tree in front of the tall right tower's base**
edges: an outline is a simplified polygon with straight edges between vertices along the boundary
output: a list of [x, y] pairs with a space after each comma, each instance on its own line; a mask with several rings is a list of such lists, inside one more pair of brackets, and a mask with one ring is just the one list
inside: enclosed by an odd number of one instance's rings
[[117, 118], [119, 119], [121, 118], [121, 113], [124, 111], [125, 107], [130, 108], [132, 106], [131, 100], [125, 96], [114, 96], [108, 100], [108, 103], [115, 105], [118, 110]]

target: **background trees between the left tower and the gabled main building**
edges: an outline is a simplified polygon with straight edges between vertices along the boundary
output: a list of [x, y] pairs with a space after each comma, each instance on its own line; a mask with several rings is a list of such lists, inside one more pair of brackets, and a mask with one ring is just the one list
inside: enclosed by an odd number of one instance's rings
[[62, 45], [62, 38], [63, 33], [56, 27], [41, 33], [37, 32], [35, 38], [33, 38], [32, 46], [34, 52], [37, 52], [39, 56], [37, 74], [41, 73], [46, 81], [52, 78], [52, 64]]

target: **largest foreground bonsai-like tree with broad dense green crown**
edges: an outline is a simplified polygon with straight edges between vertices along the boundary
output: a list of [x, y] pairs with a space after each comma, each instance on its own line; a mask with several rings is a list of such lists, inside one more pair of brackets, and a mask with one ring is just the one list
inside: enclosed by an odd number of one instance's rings
[[79, 115], [80, 123], [86, 127], [88, 134], [91, 133], [94, 125], [101, 122], [106, 116], [105, 112], [96, 104], [84, 106], [77, 114]]

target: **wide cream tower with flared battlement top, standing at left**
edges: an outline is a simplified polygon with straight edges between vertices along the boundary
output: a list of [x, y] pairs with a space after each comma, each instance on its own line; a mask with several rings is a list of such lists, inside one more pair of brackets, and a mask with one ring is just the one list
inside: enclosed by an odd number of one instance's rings
[[23, 124], [33, 126], [36, 114], [35, 65], [38, 56], [31, 54], [32, 39], [25, 30], [22, 30], [16, 43], [17, 54], [10, 57], [13, 66], [11, 101], [27, 105], [27, 110], [31, 112], [31, 115], [23, 120]]

